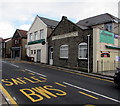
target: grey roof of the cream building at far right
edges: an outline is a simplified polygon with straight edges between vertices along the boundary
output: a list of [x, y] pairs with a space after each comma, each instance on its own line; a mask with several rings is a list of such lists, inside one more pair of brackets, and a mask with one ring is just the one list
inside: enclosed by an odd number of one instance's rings
[[84, 26], [93, 26], [93, 25], [99, 25], [107, 22], [116, 22], [118, 20], [120, 21], [120, 19], [118, 19], [117, 17], [111, 14], [105, 13], [105, 14], [80, 20], [79, 22], [77, 22], [77, 24], [84, 25]]

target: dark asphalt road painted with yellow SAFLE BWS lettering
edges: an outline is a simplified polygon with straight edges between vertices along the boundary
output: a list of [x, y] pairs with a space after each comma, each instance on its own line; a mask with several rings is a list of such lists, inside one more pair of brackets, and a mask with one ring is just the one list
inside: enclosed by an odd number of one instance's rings
[[2, 61], [2, 87], [18, 105], [120, 106], [113, 81], [35, 63]]

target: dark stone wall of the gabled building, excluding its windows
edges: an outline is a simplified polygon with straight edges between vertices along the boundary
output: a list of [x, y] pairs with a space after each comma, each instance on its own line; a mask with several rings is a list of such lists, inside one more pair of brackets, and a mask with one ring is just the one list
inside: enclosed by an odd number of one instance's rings
[[[87, 43], [90, 36], [90, 60], [93, 60], [92, 29], [83, 28], [63, 17], [58, 26], [48, 38], [49, 52], [53, 47], [53, 65], [76, 68], [87, 71], [88, 60], [78, 57], [79, 44]], [[68, 58], [60, 57], [60, 47], [68, 45]], [[49, 55], [50, 56], [50, 55]], [[93, 69], [93, 61], [90, 61], [90, 71]]]

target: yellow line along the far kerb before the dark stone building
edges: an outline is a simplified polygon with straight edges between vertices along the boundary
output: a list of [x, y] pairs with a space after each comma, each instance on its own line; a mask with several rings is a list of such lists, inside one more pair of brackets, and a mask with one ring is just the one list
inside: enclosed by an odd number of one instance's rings
[[94, 78], [94, 79], [98, 79], [98, 80], [103, 80], [103, 81], [107, 81], [107, 82], [112, 82], [112, 83], [114, 83], [114, 82], [111, 81], [111, 80], [102, 79], [102, 78], [98, 78], [98, 77], [94, 77], [94, 76], [90, 76], [90, 75], [85, 75], [85, 74], [81, 74], [81, 73], [71, 72], [71, 71], [67, 71], [67, 70], [63, 70], [63, 69], [57, 69], [57, 68], [53, 68], [53, 67], [48, 67], [48, 68], [56, 69], [56, 70], [60, 70], [60, 71], [64, 71], [64, 72], [68, 72], [68, 73], [72, 73], [72, 74], [82, 75], [82, 76], [85, 76], [85, 77], [90, 77], [90, 78]]

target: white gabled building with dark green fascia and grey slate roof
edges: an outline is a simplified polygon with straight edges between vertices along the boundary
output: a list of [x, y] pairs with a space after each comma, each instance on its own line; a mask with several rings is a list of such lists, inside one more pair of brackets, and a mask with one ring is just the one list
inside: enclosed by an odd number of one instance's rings
[[58, 24], [58, 21], [36, 16], [27, 33], [27, 56], [34, 62], [48, 62], [47, 37]]

